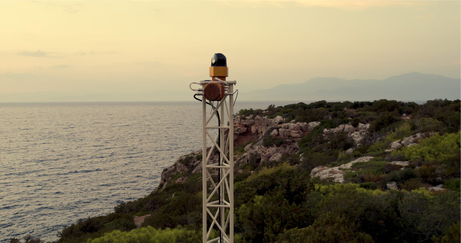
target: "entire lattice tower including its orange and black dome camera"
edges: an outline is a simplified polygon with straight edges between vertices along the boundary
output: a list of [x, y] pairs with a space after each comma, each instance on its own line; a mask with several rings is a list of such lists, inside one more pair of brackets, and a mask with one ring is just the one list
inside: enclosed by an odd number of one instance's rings
[[[215, 53], [210, 67], [212, 80], [196, 83], [201, 85], [201, 89], [192, 89], [189, 86], [190, 89], [199, 91], [196, 95], [202, 96], [203, 243], [234, 242], [233, 92], [236, 81], [226, 81], [228, 70], [226, 57]], [[217, 101], [216, 107], [214, 101]], [[210, 124], [213, 117], [218, 119], [218, 125]], [[213, 138], [209, 129], [218, 129], [218, 135]], [[212, 144], [209, 150], [208, 141]], [[217, 180], [212, 178], [216, 174]], [[210, 225], [207, 225], [208, 220], [211, 221]], [[212, 229], [218, 230], [219, 237], [209, 239]]]

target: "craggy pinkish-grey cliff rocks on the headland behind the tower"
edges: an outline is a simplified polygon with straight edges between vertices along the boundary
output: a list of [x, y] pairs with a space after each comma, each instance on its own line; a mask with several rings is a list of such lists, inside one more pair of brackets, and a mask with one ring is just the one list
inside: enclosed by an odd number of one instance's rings
[[[291, 155], [300, 151], [298, 140], [312, 131], [320, 122], [296, 122], [292, 120], [284, 123], [281, 116], [273, 119], [261, 116], [236, 117], [234, 119], [234, 147], [244, 147], [244, 152], [235, 156], [236, 164], [255, 163], [258, 166], [261, 162], [277, 161], [283, 154]], [[324, 129], [324, 136], [345, 132], [354, 140], [354, 147], [345, 151], [346, 154], [353, 152], [354, 148], [361, 146], [364, 136], [368, 134], [370, 124], [359, 123], [356, 127], [351, 124], [341, 124], [334, 129]], [[283, 139], [283, 146], [267, 146], [264, 142], [265, 136]], [[208, 148], [209, 149], [209, 148]], [[217, 156], [212, 155], [209, 164], [216, 163]], [[301, 159], [302, 160], [302, 159]], [[167, 182], [183, 182], [185, 178], [195, 172], [201, 172], [202, 150], [193, 151], [190, 154], [182, 155], [172, 166], [165, 168], [161, 174], [160, 184]], [[236, 170], [238, 172], [238, 170]], [[325, 176], [324, 176], [325, 177]]]

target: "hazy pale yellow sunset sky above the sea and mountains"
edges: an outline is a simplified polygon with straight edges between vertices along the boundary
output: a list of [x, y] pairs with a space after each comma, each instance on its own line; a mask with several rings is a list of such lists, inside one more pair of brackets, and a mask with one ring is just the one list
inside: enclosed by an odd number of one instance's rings
[[[0, 93], [460, 77], [460, 1], [0, 1]], [[192, 91], [191, 91], [192, 92]]]

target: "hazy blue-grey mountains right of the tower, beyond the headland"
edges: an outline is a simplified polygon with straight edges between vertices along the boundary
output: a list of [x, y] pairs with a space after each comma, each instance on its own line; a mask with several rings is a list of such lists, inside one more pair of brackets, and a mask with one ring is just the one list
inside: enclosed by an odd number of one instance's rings
[[428, 101], [445, 98], [461, 98], [461, 79], [420, 72], [383, 80], [316, 77], [304, 83], [281, 84], [272, 89], [239, 94], [239, 99], [244, 101]]

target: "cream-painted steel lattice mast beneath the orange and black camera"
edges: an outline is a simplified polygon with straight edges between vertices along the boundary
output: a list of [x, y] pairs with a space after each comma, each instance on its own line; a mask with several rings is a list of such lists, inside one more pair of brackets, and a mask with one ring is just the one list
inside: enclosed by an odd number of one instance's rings
[[[204, 85], [207, 81], [202, 81]], [[225, 86], [227, 95], [219, 101], [217, 107], [211, 107], [207, 118], [206, 99], [202, 98], [202, 220], [203, 243], [234, 243], [234, 117], [233, 86], [235, 81]], [[219, 111], [219, 126], [209, 124]], [[209, 113], [209, 112], [208, 112]], [[227, 120], [227, 121], [226, 121]], [[228, 124], [225, 124], [228, 122]], [[218, 129], [218, 136], [213, 138], [208, 129]], [[225, 137], [227, 134], [227, 137]], [[219, 142], [218, 142], [219, 138]], [[212, 146], [207, 152], [207, 142]], [[209, 164], [215, 153], [220, 154], [217, 163]], [[227, 155], [229, 154], [229, 155]], [[218, 157], [218, 156], [216, 156]], [[212, 176], [219, 175], [215, 182]], [[209, 183], [207, 183], [209, 181]], [[211, 221], [207, 225], [208, 220]], [[209, 239], [211, 231], [217, 230], [219, 236]]]

